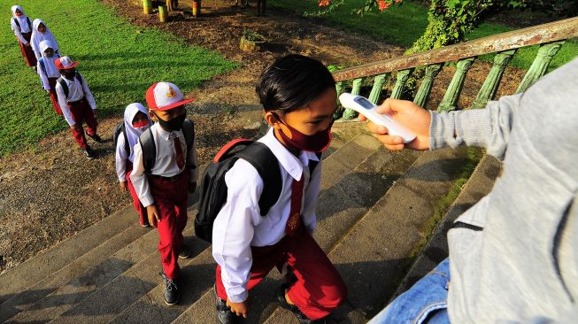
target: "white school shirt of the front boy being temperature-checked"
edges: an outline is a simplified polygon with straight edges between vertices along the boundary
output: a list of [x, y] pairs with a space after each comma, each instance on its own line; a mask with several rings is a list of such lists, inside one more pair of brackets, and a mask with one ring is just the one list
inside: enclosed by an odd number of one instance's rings
[[304, 174], [304, 195], [301, 218], [310, 234], [317, 226], [315, 209], [320, 192], [321, 162], [309, 174], [309, 161], [319, 161], [312, 152], [302, 151], [297, 158], [274, 136], [273, 128], [258, 140], [273, 152], [281, 168], [281, 195], [265, 217], [261, 216], [258, 199], [263, 180], [249, 162], [239, 159], [225, 175], [227, 202], [212, 228], [212, 256], [221, 266], [221, 279], [227, 297], [234, 303], [247, 299], [252, 257], [250, 246], [274, 245], [285, 236], [291, 209], [291, 184]]

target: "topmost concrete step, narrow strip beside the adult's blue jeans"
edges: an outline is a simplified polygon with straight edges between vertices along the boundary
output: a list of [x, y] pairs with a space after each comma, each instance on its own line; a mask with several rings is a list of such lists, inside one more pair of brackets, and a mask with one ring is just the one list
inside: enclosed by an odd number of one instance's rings
[[475, 168], [474, 174], [467, 181], [466, 186], [459, 193], [459, 197], [451, 205], [450, 211], [446, 213], [443, 221], [435, 228], [428, 245], [420, 252], [420, 256], [415, 260], [410, 271], [405, 275], [404, 280], [399, 284], [392, 299], [403, 294], [423, 276], [435, 268], [444, 258], [448, 257], [447, 234], [453, 222], [476, 204], [482, 197], [489, 194], [494, 187], [497, 175], [501, 169], [501, 163], [494, 157], [486, 155]]

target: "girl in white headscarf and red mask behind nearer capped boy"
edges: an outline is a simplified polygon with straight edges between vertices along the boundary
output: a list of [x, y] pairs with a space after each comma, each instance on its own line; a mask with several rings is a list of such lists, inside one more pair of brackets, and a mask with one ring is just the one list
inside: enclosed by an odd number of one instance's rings
[[116, 171], [119, 176], [119, 185], [122, 191], [130, 191], [133, 197], [133, 205], [139, 214], [139, 222], [143, 228], [150, 227], [146, 208], [136, 195], [135, 186], [130, 181], [130, 174], [133, 171], [133, 161], [135, 160], [135, 144], [143, 132], [150, 127], [151, 120], [149, 113], [143, 104], [128, 104], [125, 109], [125, 118], [120, 129], [116, 142]]

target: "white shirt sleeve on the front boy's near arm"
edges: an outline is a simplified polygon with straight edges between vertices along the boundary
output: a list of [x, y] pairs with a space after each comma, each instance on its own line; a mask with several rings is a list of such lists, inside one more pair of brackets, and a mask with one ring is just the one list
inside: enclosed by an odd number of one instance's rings
[[227, 172], [225, 181], [227, 202], [213, 224], [212, 256], [221, 266], [221, 279], [228, 299], [233, 303], [243, 303], [249, 297], [250, 242], [254, 226], [261, 217], [258, 197], [264, 185], [257, 170], [242, 159]]

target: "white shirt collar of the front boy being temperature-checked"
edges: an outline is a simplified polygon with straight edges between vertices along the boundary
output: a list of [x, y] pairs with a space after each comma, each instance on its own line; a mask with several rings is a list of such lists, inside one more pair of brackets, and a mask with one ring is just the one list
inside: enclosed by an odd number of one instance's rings
[[258, 142], [266, 144], [275, 158], [279, 160], [283, 169], [297, 181], [301, 179], [303, 168], [309, 166], [309, 160], [319, 161], [315, 153], [305, 150], [302, 150], [299, 153], [299, 158], [297, 158], [275, 137], [273, 127], [270, 127], [267, 134], [261, 137]]

